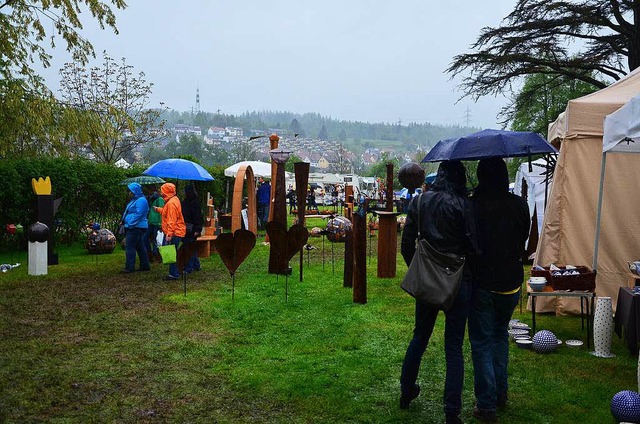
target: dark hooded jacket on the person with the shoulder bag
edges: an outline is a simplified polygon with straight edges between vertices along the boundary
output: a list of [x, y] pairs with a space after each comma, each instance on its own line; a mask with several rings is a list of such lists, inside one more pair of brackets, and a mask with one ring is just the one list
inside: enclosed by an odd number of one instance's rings
[[[400, 252], [407, 265], [411, 263], [416, 251], [418, 225], [421, 237], [426, 238], [441, 252], [462, 256], [477, 253], [473, 234], [473, 214], [467, 198], [466, 176], [462, 162], [442, 162], [430, 189], [414, 197], [409, 204], [400, 245]], [[470, 281], [471, 269], [467, 263], [463, 278]]]

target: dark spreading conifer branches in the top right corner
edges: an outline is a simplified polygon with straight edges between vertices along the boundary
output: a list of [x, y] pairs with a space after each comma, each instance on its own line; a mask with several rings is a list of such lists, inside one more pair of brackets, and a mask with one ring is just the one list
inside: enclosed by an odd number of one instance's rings
[[602, 88], [640, 66], [638, 20], [640, 0], [518, 0], [447, 72], [460, 76], [464, 94], [476, 99], [509, 91], [531, 74]]

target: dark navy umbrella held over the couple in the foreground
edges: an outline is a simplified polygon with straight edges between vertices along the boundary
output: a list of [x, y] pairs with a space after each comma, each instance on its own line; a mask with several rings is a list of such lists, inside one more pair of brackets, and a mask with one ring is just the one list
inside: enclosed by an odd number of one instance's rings
[[558, 153], [558, 151], [538, 133], [482, 130], [463, 137], [438, 141], [422, 162], [530, 157], [544, 153]]

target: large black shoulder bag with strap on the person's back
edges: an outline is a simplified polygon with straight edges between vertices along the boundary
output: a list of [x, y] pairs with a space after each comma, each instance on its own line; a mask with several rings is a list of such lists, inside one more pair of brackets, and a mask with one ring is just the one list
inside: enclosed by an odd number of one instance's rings
[[422, 194], [418, 201], [418, 244], [400, 287], [421, 303], [440, 310], [453, 305], [460, 288], [465, 257], [443, 253], [421, 238]]

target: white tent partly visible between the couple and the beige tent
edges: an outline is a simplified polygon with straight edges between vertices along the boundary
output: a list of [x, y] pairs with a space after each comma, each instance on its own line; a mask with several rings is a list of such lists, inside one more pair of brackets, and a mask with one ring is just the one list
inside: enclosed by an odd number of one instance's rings
[[[546, 181], [547, 160], [544, 158], [531, 162], [531, 172], [529, 172], [529, 163], [525, 162], [520, 165], [516, 173], [516, 180], [513, 187], [513, 193], [521, 197], [526, 197], [529, 205], [529, 217], [533, 221], [535, 213], [536, 236], [534, 241], [537, 242], [537, 235], [542, 232], [542, 221], [544, 220], [544, 210], [546, 208], [549, 192], [551, 189], [551, 181]], [[526, 186], [526, 193], [525, 193]], [[534, 228], [531, 229], [533, 233]], [[530, 234], [531, 234], [530, 233]], [[527, 240], [527, 249], [529, 249]]]

